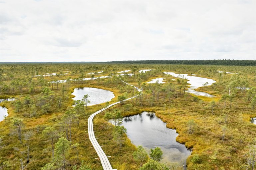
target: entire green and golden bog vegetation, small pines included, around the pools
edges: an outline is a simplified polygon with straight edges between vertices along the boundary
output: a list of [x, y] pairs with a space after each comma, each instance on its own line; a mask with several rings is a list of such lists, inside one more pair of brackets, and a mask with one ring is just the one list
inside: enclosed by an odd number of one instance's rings
[[[139, 73], [139, 69], [148, 69]], [[130, 70], [128, 75], [117, 72]], [[216, 81], [185, 92], [187, 80], [163, 74], [196, 74]], [[227, 74], [233, 73], [233, 74]], [[53, 74], [54, 73], [54, 74]], [[93, 74], [92, 74], [93, 73]], [[100, 76], [105, 78], [95, 79]], [[146, 84], [163, 77], [164, 84]], [[93, 78], [85, 80], [84, 78]], [[175, 79], [175, 80], [173, 80]], [[66, 80], [61, 83], [58, 80]], [[139, 93], [123, 81], [143, 89]], [[110, 102], [90, 106], [89, 96], [74, 101], [76, 87], [113, 91]], [[139, 95], [140, 94], [140, 95]], [[126, 101], [125, 99], [137, 97]], [[0, 98], [9, 116], [0, 122], [0, 169], [102, 170], [87, 133], [89, 116], [120, 101], [94, 119], [95, 136], [118, 170], [253, 170], [256, 165], [256, 67], [171, 64], [0, 64]], [[122, 126], [124, 116], [153, 111], [176, 129], [177, 142], [192, 149], [186, 165], [161, 162], [160, 148], [146, 153], [134, 146]], [[114, 125], [109, 123], [114, 120]]]

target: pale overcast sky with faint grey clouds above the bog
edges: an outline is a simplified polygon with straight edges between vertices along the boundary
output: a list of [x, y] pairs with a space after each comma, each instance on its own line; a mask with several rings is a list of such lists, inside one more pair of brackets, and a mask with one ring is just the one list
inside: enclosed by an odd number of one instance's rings
[[0, 62], [256, 60], [255, 2], [0, 0]]

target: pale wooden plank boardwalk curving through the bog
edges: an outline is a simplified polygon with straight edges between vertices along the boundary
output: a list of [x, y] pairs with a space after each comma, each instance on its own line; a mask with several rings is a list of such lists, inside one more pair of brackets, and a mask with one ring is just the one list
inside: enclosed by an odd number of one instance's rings
[[[124, 83], [128, 84], [126, 82], [124, 82]], [[130, 84], [128, 84], [128, 85], [130, 85]], [[134, 85], [131, 85], [131, 86], [136, 88], [138, 91], [141, 91], [138, 87], [135, 87]], [[135, 97], [137, 97], [137, 96], [130, 97], [130, 98], [126, 99], [126, 100], [130, 100], [130, 99], [135, 98]], [[104, 170], [113, 170], [113, 168], [112, 168], [112, 166], [111, 166], [111, 164], [109, 162], [109, 159], [108, 159], [107, 155], [102, 150], [100, 144], [98, 143], [98, 141], [95, 138], [94, 131], [93, 131], [93, 118], [94, 118], [95, 115], [101, 113], [102, 111], [104, 111], [104, 110], [106, 110], [106, 109], [110, 108], [111, 106], [114, 106], [114, 105], [116, 105], [118, 103], [120, 103], [120, 101], [116, 102], [116, 103], [113, 103], [113, 104], [110, 104], [108, 107], [105, 107], [105, 108], [103, 108], [103, 109], [101, 109], [101, 110], [91, 114], [90, 117], [88, 118], [88, 135], [89, 135], [89, 139], [90, 139], [91, 143], [93, 144], [93, 147], [96, 150], [96, 152], [97, 152], [97, 154], [98, 154], [98, 156], [99, 156], [99, 158], [101, 160], [101, 164], [102, 164], [102, 167], [103, 167]], [[114, 169], [114, 170], [117, 170], [117, 169]]]

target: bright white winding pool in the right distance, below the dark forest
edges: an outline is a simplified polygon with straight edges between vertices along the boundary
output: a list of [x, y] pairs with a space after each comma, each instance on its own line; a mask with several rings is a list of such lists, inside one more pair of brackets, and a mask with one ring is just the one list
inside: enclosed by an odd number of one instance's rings
[[208, 83], [207, 85], [211, 85], [215, 83], [216, 81], [212, 79], [207, 79], [203, 77], [197, 77], [197, 76], [188, 76], [187, 74], [176, 74], [173, 72], [163, 72], [164, 74], [172, 75], [173, 77], [182, 78], [189, 80], [187, 83], [191, 84], [188, 88], [187, 92], [198, 95], [198, 96], [207, 96], [207, 97], [215, 97], [214, 95], [211, 95], [206, 92], [202, 91], [195, 91], [196, 88], [204, 86], [205, 83]]

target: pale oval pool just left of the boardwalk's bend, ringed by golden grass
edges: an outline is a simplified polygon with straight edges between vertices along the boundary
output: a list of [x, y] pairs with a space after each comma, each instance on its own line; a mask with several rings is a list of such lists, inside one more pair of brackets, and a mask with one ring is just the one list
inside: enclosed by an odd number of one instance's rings
[[74, 100], [82, 100], [84, 95], [88, 94], [90, 106], [105, 103], [115, 97], [112, 91], [92, 87], [75, 88], [72, 94], [75, 95]]

